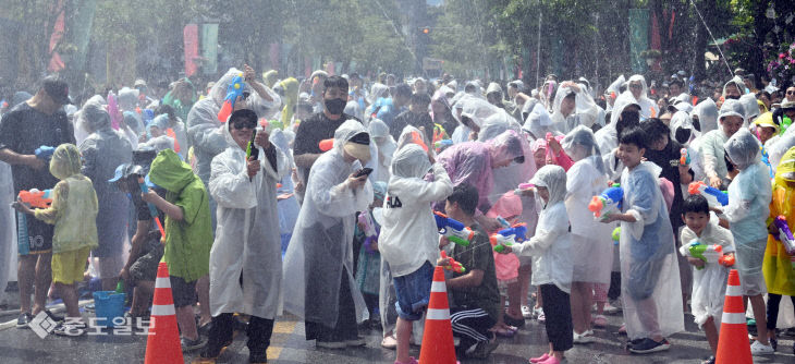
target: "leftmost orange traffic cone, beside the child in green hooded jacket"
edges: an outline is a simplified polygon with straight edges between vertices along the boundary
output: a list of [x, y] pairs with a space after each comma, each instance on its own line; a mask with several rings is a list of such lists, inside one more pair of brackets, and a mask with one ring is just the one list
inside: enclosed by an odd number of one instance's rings
[[146, 341], [144, 364], [183, 364], [180, 328], [176, 326], [174, 299], [171, 295], [169, 266], [160, 262], [155, 281], [155, 299], [151, 304], [149, 338]]

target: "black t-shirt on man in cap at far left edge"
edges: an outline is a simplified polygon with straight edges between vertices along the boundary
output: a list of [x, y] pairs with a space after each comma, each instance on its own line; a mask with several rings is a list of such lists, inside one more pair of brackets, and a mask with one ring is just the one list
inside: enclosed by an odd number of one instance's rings
[[[42, 145], [58, 147], [64, 143], [74, 144], [75, 139], [72, 123], [63, 110], [48, 116], [27, 102], [22, 102], [0, 120], [0, 149], [8, 148], [16, 154], [32, 155]], [[58, 183], [47, 166], [36, 170], [24, 165], [13, 165], [11, 172], [14, 194], [22, 190], [52, 189]]]

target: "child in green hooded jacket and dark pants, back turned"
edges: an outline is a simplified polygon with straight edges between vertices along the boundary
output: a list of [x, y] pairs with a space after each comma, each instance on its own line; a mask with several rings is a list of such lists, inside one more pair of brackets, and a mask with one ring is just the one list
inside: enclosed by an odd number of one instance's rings
[[169, 265], [182, 349], [195, 350], [204, 347], [193, 313], [196, 281], [209, 274], [212, 245], [207, 190], [191, 166], [171, 149], [160, 151], [151, 162], [149, 179], [167, 191], [163, 198], [149, 189], [142, 198], [166, 214], [163, 262]]

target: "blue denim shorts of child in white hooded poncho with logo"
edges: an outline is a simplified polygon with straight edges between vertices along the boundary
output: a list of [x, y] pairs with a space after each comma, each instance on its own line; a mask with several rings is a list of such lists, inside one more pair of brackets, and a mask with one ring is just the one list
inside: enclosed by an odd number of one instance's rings
[[423, 308], [430, 302], [430, 284], [433, 282], [433, 266], [426, 262], [409, 275], [394, 277], [394, 292], [397, 316], [416, 321], [423, 318]]

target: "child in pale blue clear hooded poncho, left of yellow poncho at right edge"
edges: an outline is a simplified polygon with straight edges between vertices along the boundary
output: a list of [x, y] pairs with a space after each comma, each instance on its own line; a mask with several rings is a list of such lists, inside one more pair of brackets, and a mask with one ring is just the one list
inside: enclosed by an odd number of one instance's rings
[[774, 350], [768, 342], [762, 299], [766, 293], [762, 260], [768, 242], [766, 219], [770, 215], [772, 198], [770, 172], [761, 162], [759, 141], [748, 130], [741, 129], [734, 133], [723, 148], [731, 163], [739, 171], [729, 185], [729, 205], [723, 213], [734, 235], [743, 295], [750, 300], [757, 323], [758, 337], [751, 343], [750, 352], [754, 355], [770, 355]]

